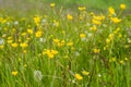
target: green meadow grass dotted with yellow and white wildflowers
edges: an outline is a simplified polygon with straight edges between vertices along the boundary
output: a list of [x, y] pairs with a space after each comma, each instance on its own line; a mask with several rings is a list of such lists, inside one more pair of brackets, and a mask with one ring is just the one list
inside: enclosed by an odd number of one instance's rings
[[126, 4], [105, 13], [45, 8], [44, 14], [24, 17], [1, 12], [0, 87], [131, 86]]

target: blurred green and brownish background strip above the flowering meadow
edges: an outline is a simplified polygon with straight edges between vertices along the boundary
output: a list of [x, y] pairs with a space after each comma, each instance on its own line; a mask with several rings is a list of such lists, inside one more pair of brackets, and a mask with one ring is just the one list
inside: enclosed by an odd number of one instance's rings
[[79, 5], [85, 5], [87, 10], [93, 11], [105, 11], [108, 7], [119, 9], [120, 3], [124, 3], [128, 13], [131, 13], [131, 0], [0, 0], [0, 11], [23, 15], [43, 13], [48, 11], [51, 2], [55, 2], [58, 8], [76, 10]]

